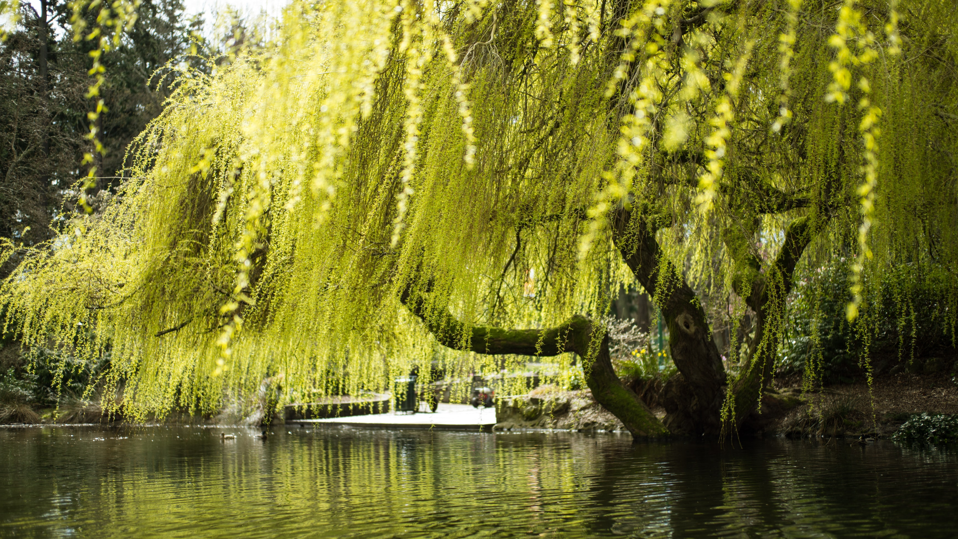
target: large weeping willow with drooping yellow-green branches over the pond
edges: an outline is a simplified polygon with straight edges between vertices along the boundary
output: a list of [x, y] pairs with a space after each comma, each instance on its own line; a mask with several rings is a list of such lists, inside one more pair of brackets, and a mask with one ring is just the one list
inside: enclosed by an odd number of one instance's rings
[[[108, 355], [131, 417], [265, 378], [383, 390], [438, 344], [582, 362], [636, 436], [739, 428], [800, 263], [851, 254], [863, 331], [883, 275], [902, 298], [937, 275], [953, 337], [944, 4], [293, 2], [266, 47], [183, 68], [103, 213], [3, 283], [5, 329]], [[609, 361], [636, 282], [678, 369], [661, 421]], [[704, 293], [756, 319], [734, 368]]]

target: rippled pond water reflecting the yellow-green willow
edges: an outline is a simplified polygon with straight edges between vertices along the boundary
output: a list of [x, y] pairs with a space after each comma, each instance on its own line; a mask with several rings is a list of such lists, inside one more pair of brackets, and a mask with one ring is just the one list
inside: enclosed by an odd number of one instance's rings
[[0, 430], [3, 537], [954, 537], [958, 460], [890, 443], [331, 428]]

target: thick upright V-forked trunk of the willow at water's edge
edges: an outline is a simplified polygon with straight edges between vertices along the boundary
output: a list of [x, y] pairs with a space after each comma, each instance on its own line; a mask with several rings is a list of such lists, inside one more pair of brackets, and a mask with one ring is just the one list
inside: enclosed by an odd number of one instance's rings
[[[701, 302], [655, 240], [659, 225], [671, 223], [648, 205], [635, 212], [620, 207], [610, 219], [613, 241], [636, 279], [655, 298], [669, 327], [669, 347], [678, 374], [669, 379], [660, 396], [667, 412], [665, 426], [674, 434], [739, 429], [771, 385], [795, 266], [824, 221], [802, 217], [789, 223], [782, 249], [765, 267], [757, 254], [736, 247], [749, 246], [747, 241], [727, 242], [732, 256], [741, 262], [733, 287], [757, 314], [748, 362], [728, 387]], [[728, 413], [723, 415], [723, 408]]]

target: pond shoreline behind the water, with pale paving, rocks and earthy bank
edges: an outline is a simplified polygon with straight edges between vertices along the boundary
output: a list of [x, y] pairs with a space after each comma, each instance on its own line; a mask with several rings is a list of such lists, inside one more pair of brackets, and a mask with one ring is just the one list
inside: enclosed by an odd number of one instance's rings
[[[801, 387], [793, 385], [779, 386], [776, 393], [800, 400], [800, 404], [788, 410], [781, 417], [770, 421], [758, 437], [888, 437], [901, 427], [912, 415], [927, 413], [958, 414], [958, 383], [946, 373], [913, 374], [899, 372], [882, 374], [873, 380], [869, 388], [865, 382], [852, 384], [834, 384], [816, 387], [802, 392]], [[541, 390], [540, 390], [541, 389]], [[445, 405], [450, 406], [450, 405]], [[452, 405], [455, 406], [455, 405]], [[471, 407], [465, 405], [465, 409]], [[39, 409], [38, 411], [47, 410]], [[490, 410], [491, 411], [491, 410]], [[660, 410], [662, 412], [663, 410]], [[378, 418], [392, 415], [376, 414], [352, 417], [330, 418], [326, 420], [282, 421], [277, 418], [275, 427], [306, 423], [345, 425], [363, 429], [429, 429], [429, 417], [432, 413], [397, 415], [398, 421], [381, 421]], [[257, 429], [258, 426], [223, 423], [217, 416], [182, 421], [183, 415], [168, 421], [148, 423], [114, 422], [38, 422], [38, 423], [0, 423], [0, 428], [33, 427], [101, 427], [109, 429], [151, 428], [151, 427], [198, 427], [203, 429]], [[621, 434], [625, 432], [621, 422], [612, 414], [601, 409], [591, 398], [588, 390], [557, 391], [541, 387], [526, 395], [512, 395], [498, 399], [493, 416], [494, 426], [487, 432], [591, 432]], [[221, 419], [221, 418], [218, 418]], [[207, 422], [211, 421], [211, 422]], [[409, 425], [403, 426], [402, 423]], [[467, 425], [445, 426], [442, 421], [434, 426], [437, 429], [458, 429]], [[489, 419], [482, 421], [492, 425]], [[423, 425], [425, 425], [423, 427]], [[317, 425], [318, 426], [318, 425]], [[478, 426], [473, 430], [482, 430]], [[676, 436], [682, 437], [682, 436]]]

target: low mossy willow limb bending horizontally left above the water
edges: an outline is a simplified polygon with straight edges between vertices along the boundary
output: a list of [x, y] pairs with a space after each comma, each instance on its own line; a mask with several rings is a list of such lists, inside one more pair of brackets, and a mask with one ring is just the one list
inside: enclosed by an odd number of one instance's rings
[[[634, 437], [662, 437], [669, 434], [649, 407], [623, 385], [615, 374], [608, 354], [608, 336], [595, 342], [595, 322], [585, 316], [572, 316], [559, 326], [543, 330], [502, 329], [492, 326], [472, 326], [448, 310], [438, 314], [427, 312], [422, 296], [407, 287], [400, 301], [416, 316], [436, 338], [449, 348], [470, 350], [477, 354], [514, 354], [519, 356], [558, 356], [575, 352], [582, 358], [591, 359], [583, 364], [586, 384], [596, 401], [619, 418]], [[603, 331], [604, 333], [604, 331]]]

